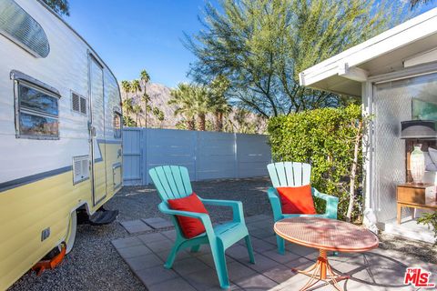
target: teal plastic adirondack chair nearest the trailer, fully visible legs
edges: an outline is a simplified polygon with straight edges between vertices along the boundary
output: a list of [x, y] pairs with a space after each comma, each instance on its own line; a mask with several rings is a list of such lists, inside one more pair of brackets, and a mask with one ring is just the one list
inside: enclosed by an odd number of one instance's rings
[[[230, 206], [233, 211], [233, 219], [229, 223], [219, 226], [212, 226], [209, 216], [204, 213], [194, 213], [187, 211], [172, 210], [168, 207], [167, 200], [181, 198], [193, 193], [189, 182], [188, 169], [184, 166], [157, 166], [148, 171], [154, 185], [157, 187], [158, 194], [162, 202], [159, 210], [171, 216], [176, 228], [176, 242], [168, 255], [166, 268], [171, 268], [178, 251], [191, 247], [191, 252], [198, 252], [200, 245], [209, 244], [212, 257], [219, 276], [219, 284], [222, 288], [229, 288], [228, 268], [226, 266], [225, 250], [244, 238], [248, 248], [250, 263], [255, 264], [252, 244], [250, 242], [248, 228], [244, 222], [243, 205], [240, 201], [229, 200], [200, 200], [205, 205], [211, 206]], [[193, 238], [184, 237], [176, 216], [188, 216], [198, 218], [205, 226], [206, 232]]]

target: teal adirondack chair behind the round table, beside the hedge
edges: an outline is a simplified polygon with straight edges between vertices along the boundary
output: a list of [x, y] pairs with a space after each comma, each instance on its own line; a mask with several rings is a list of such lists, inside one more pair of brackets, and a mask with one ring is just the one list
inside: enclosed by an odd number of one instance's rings
[[[272, 187], [269, 187], [268, 195], [271, 208], [273, 209], [273, 219], [277, 222], [283, 218], [297, 216], [319, 216], [331, 219], [337, 219], [337, 210], [339, 206], [339, 198], [320, 193], [317, 189], [311, 187], [312, 196], [319, 197], [326, 201], [326, 209], [324, 214], [318, 215], [301, 215], [301, 214], [282, 214], [280, 200], [277, 187], [284, 186], [305, 186], [310, 184], [311, 166], [310, 164], [297, 162], [279, 162], [272, 163], [267, 166]], [[279, 254], [285, 254], [285, 240], [280, 236], [276, 236], [278, 243]]]

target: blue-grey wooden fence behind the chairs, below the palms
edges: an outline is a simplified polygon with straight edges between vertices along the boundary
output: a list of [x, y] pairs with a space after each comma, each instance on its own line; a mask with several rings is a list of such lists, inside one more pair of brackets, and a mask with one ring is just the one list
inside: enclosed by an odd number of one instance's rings
[[127, 186], [150, 183], [154, 166], [188, 167], [192, 181], [268, 176], [267, 135], [175, 129], [123, 129], [123, 180]]

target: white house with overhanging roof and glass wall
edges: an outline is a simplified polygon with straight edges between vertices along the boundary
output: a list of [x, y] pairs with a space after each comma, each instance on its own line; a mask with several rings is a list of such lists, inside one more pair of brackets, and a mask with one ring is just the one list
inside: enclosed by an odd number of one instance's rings
[[[367, 224], [433, 242], [432, 230], [416, 218], [437, 210], [437, 8], [308, 68], [300, 85], [361, 97], [363, 115], [371, 116], [364, 143]], [[412, 150], [419, 145], [422, 185], [412, 183]]]

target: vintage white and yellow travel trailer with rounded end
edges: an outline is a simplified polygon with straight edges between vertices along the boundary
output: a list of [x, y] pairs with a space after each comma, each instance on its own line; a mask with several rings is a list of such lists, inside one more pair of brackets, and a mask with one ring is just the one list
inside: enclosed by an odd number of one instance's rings
[[116, 77], [93, 48], [42, 2], [1, 0], [0, 290], [69, 252], [78, 216], [116, 218], [102, 206], [122, 186], [121, 126]]

